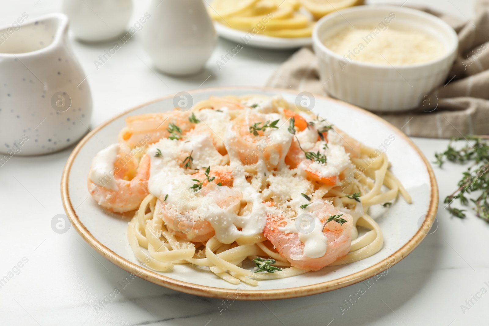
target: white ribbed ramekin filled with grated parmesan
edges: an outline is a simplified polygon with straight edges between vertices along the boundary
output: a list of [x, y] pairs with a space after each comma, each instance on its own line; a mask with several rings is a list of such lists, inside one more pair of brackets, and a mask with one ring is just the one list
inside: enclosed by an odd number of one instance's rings
[[365, 5], [320, 19], [312, 42], [323, 90], [372, 111], [415, 109], [441, 85], [458, 37], [439, 18], [398, 6]]

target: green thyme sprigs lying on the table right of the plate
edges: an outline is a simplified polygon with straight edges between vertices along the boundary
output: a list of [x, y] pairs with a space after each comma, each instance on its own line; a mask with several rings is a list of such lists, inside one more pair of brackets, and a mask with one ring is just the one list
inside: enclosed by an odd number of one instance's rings
[[[454, 142], [466, 140], [467, 144], [461, 149], [453, 146]], [[470, 141], [470, 142], [469, 142]], [[489, 222], [489, 137], [468, 135], [465, 137], [452, 137], [445, 152], [435, 153], [436, 161], [440, 167], [445, 160], [450, 162], [466, 163], [473, 161], [467, 171], [462, 174], [462, 179], [458, 182], [458, 189], [451, 195], [446, 196], [445, 204], [448, 212], [455, 217], [467, 217], [467, 210], [451, 207], [455, 199], [468, 206], [469, 200], [475, 204], [477, 217]], [[467, 195], [477, 192], [476, 198], [468, 198]]]

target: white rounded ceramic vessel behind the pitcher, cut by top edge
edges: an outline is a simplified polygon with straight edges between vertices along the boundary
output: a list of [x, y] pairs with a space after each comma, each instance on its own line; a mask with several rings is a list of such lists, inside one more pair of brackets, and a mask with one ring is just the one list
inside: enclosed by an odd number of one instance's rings
[[114, 39], [126, 31], [132, 0], [65, 0], [63, 11], [75, 37], [86, 42]]

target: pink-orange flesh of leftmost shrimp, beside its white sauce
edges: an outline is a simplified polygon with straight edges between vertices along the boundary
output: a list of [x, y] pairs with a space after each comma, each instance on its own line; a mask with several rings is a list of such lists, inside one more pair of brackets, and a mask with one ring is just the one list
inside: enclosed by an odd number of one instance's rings
[[[97, 156], [93, 161], [95, 162], [96, 159]], [[116, 213], [133, 211], [149, 194], [150, 165], [151, 160], [148, 155], [143, 156], [138, 164], [129, 149], [120, 145], [117, 159], [113, 164], [113, 176], [107, 176], [103, 182], [92, 180], [96, 175], [93, 171], [94, 163], [92, 163], [88, 179], [89, 192], [99, 205], [109, 211]], [[137, 173], [135, 172], [136, 167]], [[132, 177], [133, 174], [135, 174], [134, 177]]]

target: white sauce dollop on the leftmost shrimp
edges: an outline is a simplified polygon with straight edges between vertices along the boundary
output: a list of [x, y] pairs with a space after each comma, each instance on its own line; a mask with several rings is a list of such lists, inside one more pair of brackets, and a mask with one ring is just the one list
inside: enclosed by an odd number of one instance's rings
[[111, 190], [119, 189], [114, 179], [114, 164], [119, 148], [119, 144], [112, 144], [92, 159], [89, 178], [93, 183]]

